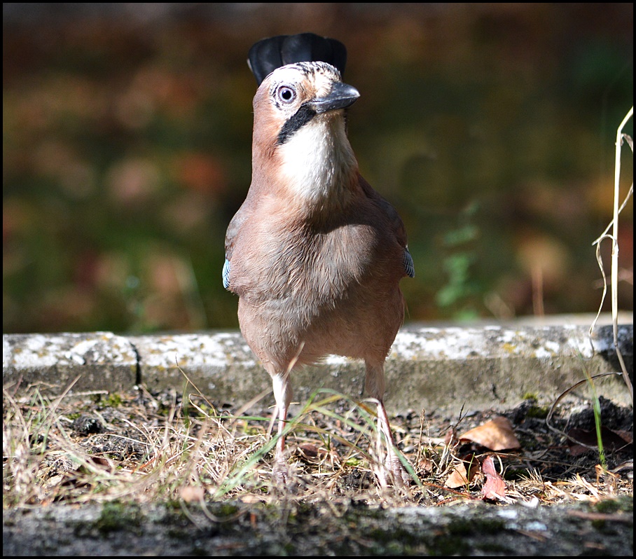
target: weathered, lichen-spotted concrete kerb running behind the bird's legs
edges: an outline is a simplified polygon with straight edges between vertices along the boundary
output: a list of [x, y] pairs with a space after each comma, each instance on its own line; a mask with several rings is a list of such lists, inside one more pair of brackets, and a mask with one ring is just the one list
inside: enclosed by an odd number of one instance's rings
[[[633, 324], [618, 327], [618, 347], [633, 371]], [[41, 383], [50, 394], [149, 388], [186, 389], [189, 380], [216, 403], [242, 405], [271, 388], [270, 379], [239, 332], [117, 336], [111, 332], [4, 334], [4, 387]], [[553, 400], [591, 375], [619, 371], [612, 327], [433, 327], [413, 324], [398, 333], [387, 359], [389, 410], [457, 413], [513, 406], [529, 394]], [[186, 380], [187, 379], [187, 380]], [[293, 373], [296, 401], [319, 388], [358, 397], [364, 365], [343, 357]], [[628, 403], [622, 378], [596, 381], [598, 394]], [[572, 394], [589, 399], [583, 382]], [[272, 399], [272, 396], [267, 396]], [[268, 403], [270, 403], [268, 401]]]

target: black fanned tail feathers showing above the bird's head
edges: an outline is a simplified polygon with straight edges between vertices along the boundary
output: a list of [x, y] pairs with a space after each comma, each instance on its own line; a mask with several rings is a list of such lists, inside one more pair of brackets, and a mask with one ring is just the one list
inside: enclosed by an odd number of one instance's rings
[[247, 64], [258, 85], [275, 69], [294, 62], [326, 62], [344, 74], [347, 48], [336, 39], [300, 33], [261, 39], [251, 46], [247, 55]]

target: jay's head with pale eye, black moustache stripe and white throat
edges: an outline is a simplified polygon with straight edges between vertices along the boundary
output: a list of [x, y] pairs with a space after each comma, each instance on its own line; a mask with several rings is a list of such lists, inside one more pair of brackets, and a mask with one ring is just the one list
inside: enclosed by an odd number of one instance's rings
[[310, 198], [333, 190], [357, 170], [345, 109], [359, 96], [326, 62], [272, 71], [254, 97], [254, 171], [265, 165], [270, 176], [282, 174], [296, 193], [312, 193]]

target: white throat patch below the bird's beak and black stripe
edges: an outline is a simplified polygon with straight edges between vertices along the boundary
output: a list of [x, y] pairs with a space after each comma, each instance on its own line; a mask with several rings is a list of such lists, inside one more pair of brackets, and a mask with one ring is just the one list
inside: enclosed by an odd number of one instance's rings
[[344, 186], [355, 165], [343, 118], [314, 117], [279, 146], [289, 190], [306, 202], [320, 202]]

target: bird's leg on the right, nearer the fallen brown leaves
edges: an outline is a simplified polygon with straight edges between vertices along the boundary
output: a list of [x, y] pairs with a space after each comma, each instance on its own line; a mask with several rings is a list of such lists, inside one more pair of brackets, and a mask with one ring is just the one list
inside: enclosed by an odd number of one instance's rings
[[395, 439], [391, 432], [389, 416], [387, 415], [385, 404], [382, 402], [382, 396], [384, 396], [385, 392], [383, 363], [371, 364], [366, 361], [365, 389], [378, 403], [378, 456], [382, 455], [382, 436], [385, 438], [387, 448], [387, 457], [378, 472], [378, 481], [383, 487], [387, 485], [402, 487], [405, 483], [408, 483], [408, 474], [406, 474], [396, 454]]

